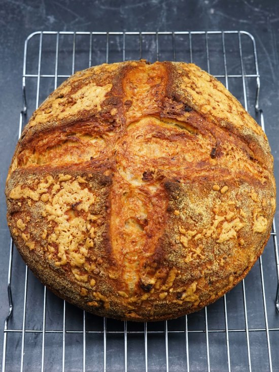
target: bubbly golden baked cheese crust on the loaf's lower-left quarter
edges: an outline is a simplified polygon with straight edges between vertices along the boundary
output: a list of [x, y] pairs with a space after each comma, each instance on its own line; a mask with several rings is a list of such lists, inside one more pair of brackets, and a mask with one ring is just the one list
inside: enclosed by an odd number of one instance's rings
[[[92, 275], [95, 277], [96, 267], [102, 263], [94, 252], [101, 229], [101, 218], [96, 213], [101, 195], [92, 190], [86, 176], [61, 173], [30, 181], [12, 188], [9, 194], [12, 200], [22, 200], [22, 209], [27, 214], [25, 217], [20, 211], [23, 219], [12, 219], [15, 231], [23, 231], [17, 234], [21, 243], [39, 255], [44, 253], [49, 264], [61, 267], [78, 282], [93, 288], [96, 279]], [[86, 296], [85, 289], [81, 295]]]

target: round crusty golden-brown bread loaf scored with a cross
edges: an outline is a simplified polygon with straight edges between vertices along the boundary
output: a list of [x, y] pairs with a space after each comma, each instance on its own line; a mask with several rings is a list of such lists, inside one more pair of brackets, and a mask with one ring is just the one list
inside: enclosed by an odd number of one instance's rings
[[25, 126], [6, 187], [32, 272], [93, 314], [176, 318], [244, 278], [275, 211], [267, 138], [194, 64], [102, 64]]

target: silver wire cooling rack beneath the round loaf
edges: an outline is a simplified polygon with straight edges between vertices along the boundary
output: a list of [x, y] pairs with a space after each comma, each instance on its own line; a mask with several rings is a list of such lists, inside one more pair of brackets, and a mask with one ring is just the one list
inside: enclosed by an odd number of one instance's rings
[[[256, 46], [245, 31], [39, 31], [25, 41], [19, 135], [33, 110], [75, 71], [139, 58], [193, 61], [221, 80], [264, 129]], [[278, 268], [273, 221], [245, 281], [213, 305], [166, 322], [120, 322], [53, 295], [11, 241], [2, 371], [278, 371]]]

